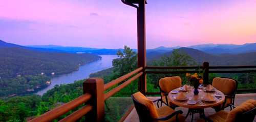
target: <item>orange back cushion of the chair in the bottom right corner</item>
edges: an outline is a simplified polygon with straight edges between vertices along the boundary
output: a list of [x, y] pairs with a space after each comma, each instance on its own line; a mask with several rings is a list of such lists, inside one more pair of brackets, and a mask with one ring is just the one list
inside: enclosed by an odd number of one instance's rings
[[235, 121], [238, 114], [249, 111], [256, 107], [256, 100], [247, 100], [233, 110], [229, 111], [227, 115], [227, 122]]

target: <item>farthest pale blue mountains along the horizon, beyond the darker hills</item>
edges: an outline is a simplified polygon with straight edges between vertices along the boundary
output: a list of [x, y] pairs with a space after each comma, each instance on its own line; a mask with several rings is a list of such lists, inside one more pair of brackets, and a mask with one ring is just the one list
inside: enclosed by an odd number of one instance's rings
[[[77, 52], [85, 52], [85, 53], [93, 53], [93, 54], [116, 54], [118, 50], [122, 49], [99, 49], [99, 48], [86, 48], [86, 47], [65, 47], [65, 46], [58, 46], [58, 45], [34, 45], [34, 46], [27, 46], [30, 48], [36, 49], [49, 49], [49, 50], [58, 50], [62, 52], [70, 52], [70, 53], [77, 53]], [[181, 48], [181, 46], [176, 47], [164, 47], [160, 46], [154, 49], [147, 49], [147, 53], [165, 53], [168, 51], [172, 51], [173, 49]], [[252, 52], [256, 51], [256, 43], [250, 44], [243, 44], [243, 45], [234, 45], [234, 44], [202, 44], [202, 45], [193, 45], [188, 46], [186, 48], [193, 48], [198, 49], [210, 54], [238, 54], [238, 53], [245, 53], [245, 52]], [[137, 49], [133, 49], [137, 51]]]

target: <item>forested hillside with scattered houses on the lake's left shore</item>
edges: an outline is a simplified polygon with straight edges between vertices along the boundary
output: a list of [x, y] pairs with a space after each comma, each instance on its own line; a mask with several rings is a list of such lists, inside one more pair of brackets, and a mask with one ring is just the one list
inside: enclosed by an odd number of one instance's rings
[[101, 58], [89, 53], [39, 52], [19, 47], [0, 48], [0, 55], [0, 97], [33, 93], [46, 87], [51, 77], [76, 71], [80, 65]]

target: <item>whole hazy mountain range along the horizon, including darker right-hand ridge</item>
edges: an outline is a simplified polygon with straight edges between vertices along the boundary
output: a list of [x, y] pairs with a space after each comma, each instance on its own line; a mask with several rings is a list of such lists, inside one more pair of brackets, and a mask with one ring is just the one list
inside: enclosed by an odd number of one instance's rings
[[[91, 54], [116, 54], [122, 49], [99, 49], [86, 47], [65, 47], [58, 45], [20, 46], [0, 41], [0, 48], [18, 47], [41, 52], [62, 52], [62, 53], [91, 53]], [[193, 57], [197, 63], [204, 61], [211, 65], [256, 65], [256, 43], [234, 45], [234, 44], [202, 44], [189, 47], [158, 47], [147, 49], [147, 60], [159, 59], [163, 55], [169, 55], [173, 49], [179, 49]], [[137, 51], [137, 49], [133, 49]], [[246, 59], [246, 60], [245, 60]]]

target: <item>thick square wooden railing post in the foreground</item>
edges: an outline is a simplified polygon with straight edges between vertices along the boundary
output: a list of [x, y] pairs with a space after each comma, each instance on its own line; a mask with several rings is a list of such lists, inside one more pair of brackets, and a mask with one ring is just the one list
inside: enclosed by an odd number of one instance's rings
[[90, 78], [83, 82], [83, 93], [89, 93], [92, 98], [88, 103], [93, 109], [87, 114], [86, 121], [104, 120], [104, 81], [101, 78]]

